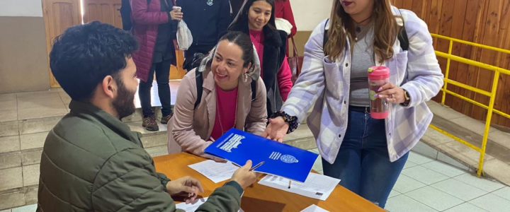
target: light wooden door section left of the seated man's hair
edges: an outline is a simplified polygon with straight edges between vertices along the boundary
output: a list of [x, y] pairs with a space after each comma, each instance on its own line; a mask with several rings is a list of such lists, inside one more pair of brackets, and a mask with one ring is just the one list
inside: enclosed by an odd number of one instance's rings
[[[67, 28], [81, 24], [80, 4], [79, 0], [42, 0], [42, 9], [45, 19], [47, 52], [50, 55], [55, 37], [64, 33]], [[50, 86], [52, 88], [60, 87], [49, 68], [48, 70]]]

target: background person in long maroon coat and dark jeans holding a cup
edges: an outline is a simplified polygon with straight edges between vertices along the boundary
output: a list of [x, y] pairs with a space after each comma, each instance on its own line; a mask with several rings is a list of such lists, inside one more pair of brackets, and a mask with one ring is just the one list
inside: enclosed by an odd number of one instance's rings
[[170, 105], [170, 65], [176, 64], [174, 39], [177, 21], [183, 13], [171, 0], [132, 0], [132, 33], [137, 38], [140, 50], [133, 54], [140, 78], [140, 104], [142, 126], [149, 131], [158, 131], [159, 126], [151, 105], [151, 88], [156, 73], [159, 100], [162, 103], [161, 123], [168, 123], [174, 112]]

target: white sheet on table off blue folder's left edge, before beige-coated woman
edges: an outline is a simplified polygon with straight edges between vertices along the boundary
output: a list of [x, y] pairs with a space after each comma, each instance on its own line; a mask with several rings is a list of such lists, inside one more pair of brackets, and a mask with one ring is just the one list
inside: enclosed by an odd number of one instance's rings
[[188, 166], [204, 175], [214, 183], [222, 182], [232, 178], [234, 172], [239, 168], [230, 162], [217, 163], [214, 160], [205, 160], [200, 163], [195, 163]]

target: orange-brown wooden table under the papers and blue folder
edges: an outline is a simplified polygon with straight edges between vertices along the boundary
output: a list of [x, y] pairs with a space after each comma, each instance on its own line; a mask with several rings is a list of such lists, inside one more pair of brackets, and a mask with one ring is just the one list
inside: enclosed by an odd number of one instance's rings
[[[189, 153], [164, 155], [154, 158], [157, 172], [162, 172], [170, 179], [184, 176], [195, 177], [202, 183], [205, 192], [201, 196], [210, 196], [214, 189], [221, 187], [225, 182], [215, 184], [210, 179], [192, 170], [188, 165], [205, 160]], [[328, 211], [384, 211], [370, 201], [354, 194], [348, 189], [337, 186], [326, 201], [300, 196], [280, 189], [273, 189], [261, 184], [254, 184], [246, 188], [241, 201], [241, 208], [251, 211], [301, 211], [308, 206], [316, 204]]]

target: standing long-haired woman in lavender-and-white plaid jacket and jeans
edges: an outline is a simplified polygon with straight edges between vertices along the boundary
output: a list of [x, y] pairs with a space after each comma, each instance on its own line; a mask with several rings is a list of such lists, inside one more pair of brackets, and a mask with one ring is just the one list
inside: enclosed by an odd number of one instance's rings
[[[390, 69], [390, 82], [375, 96], [368, 89], [371, 66]], [[416, 14], [389, 0], [336, 0], [331, 17], [307, 42], [302, 73], [263, 136], [281, 141], [314, 105], [307, 123], [324, 175], [384, 208], [409, 151], [431, 122], [426, 101], [441, 86], [432, 37]], [[390, 104], [386, 119], [370, 117], [370, 98]]]

